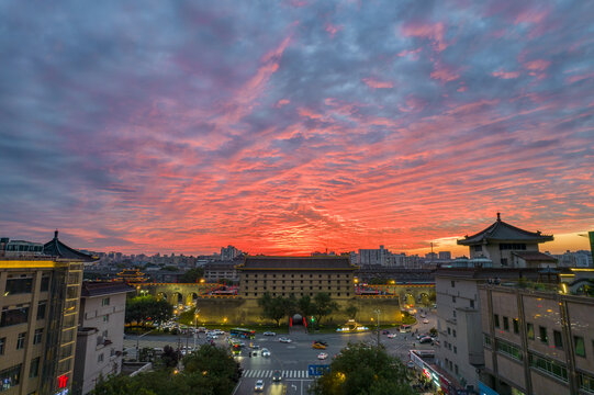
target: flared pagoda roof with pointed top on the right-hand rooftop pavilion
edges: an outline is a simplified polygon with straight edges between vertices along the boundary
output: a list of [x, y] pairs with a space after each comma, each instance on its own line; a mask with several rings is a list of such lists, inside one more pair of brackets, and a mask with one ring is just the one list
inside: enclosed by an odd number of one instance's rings
[[540, 230], [536, 233], [528, 232], [501, 221], [497, 213], [497, 221], [484, 230], [472, 236], [466, 236], [457, 242], [462, 246], [482, 244], [484, 241], [524, 241], [524, 242], [545, 242], [552, 241], [552, 235], [542, 235]]

